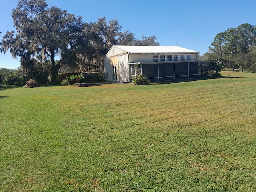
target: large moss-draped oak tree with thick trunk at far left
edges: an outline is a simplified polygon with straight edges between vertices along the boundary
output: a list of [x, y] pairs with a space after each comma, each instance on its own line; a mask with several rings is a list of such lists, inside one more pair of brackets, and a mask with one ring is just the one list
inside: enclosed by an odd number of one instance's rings
[[[7, 32], [2, 40], [4, 52], [10, 50], [14, 58], [20, 57], [23, 71], [30, 72], [34, 56], [51, 60], [51, 82], [57, 83], [61, 64], [74, 61], [74, 44], [80, 36], [82, 18], [65, 10], [47, 8], [45, 0], [21, 0], [12, 10], [16, 33]], [[55, 63], [56, 57], [58, 63]]]

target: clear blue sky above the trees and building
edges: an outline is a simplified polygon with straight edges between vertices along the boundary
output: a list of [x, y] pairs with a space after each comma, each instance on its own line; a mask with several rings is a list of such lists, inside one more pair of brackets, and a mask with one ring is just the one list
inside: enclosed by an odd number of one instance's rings
[[[121, 30], [129, 30], [136, 37], [155, 35], [162, 46], [180, 46], [200, 52], [208, 47], [219, 32], [236, 28], [241, 24], [256, 25], [256, 1], [89, 1], [46, 0], [48, 6], [56, 6], [68, 13], [82, 16], [84, 22], [117, 19]], [[7, 30], [14, 30], [11, 17], [16, 0], [0, 0], [1, 39]], [[0, 67], [18, 68], [20, 62], [10, 54], [0, 56]]]

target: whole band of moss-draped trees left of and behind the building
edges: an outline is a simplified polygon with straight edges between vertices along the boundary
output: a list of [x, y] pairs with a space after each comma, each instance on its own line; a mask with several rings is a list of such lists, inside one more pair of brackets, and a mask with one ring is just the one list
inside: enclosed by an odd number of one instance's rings
[[[20, 58], [20, 74], [42, 76], [41, 81], [58, 83], [58, 72], [100, 72], [103, 58], [112, 45], [160, 45], [156, 36], [141, 40], [121, 31], [118, 20], [85, 23], [45, 0], [21, 0], [12, 10], [16, 32], [8, 31], [0, 42], [0, 52], [10, 51]], [[38, 80], [39, 80], [38, 79]]]

